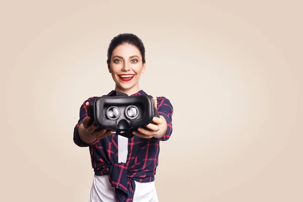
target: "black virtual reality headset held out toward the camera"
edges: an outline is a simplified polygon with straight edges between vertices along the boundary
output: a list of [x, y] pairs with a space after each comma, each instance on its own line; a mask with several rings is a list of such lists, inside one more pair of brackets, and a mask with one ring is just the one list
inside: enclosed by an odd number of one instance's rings
[[154, 100], [145, 94], [96, 97], [89, 103], [87, 114], [91, 118], [90, 124], [96, 124], [96, 130], [112, 130], [128, 138], [133, 136], [129, 132], [145, 128], [154, 117], [160, 117]]

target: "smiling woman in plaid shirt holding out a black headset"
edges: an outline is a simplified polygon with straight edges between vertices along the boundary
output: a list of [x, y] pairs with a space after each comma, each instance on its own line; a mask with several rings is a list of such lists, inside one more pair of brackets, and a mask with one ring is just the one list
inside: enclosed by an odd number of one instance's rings
[[[114, 37], [108, 48], [107, 64], [116, 86], [106, 96], [147, 94], [139, 88], [146, 63], [144, 45], [136, 35]], [[155, 174], [159, 144], [172, 133], [173, 107], [169, 99], [154, 98], [160, 118], [154, 117], [154, 124], [148, 124], [147, 129], [138, 128], [132, 138], [113, 131], [95, 131], [95, 125], [88, 125], [87, 107], [94, 99], [90, 97], [81, 105], [74, 128], [74, 142], [89, 147], [94, 169], [89, 201], [158, 201]]]

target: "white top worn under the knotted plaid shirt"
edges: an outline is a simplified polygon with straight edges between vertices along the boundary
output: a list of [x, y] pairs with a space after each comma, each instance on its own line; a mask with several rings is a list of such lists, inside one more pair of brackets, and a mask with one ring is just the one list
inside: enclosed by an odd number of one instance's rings
[[[128, 154], [128, 138], [118, 135], [118, 163], [126, 163]], [[158, 202], [153, 182], [137, 182], [133, 202]], [[93, 176], [89, 202], [116, 202], [115, 188], [111, 186], [109, 175]]]

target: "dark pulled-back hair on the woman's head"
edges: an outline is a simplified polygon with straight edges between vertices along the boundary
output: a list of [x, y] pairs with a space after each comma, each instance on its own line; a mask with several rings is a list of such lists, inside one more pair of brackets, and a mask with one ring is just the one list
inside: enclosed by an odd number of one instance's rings
[[134, 45], [139, 49], [139, 51], [141, 53], [141, 56], [142, 56], [142, 62], [144, 64], [145, 63], [145, 47], [144, 47], [144, 44], [143, 44], [143, 42], [141, 41], [141, 39], [139, 37], [137, 37], [136, 35], [131, 34], [131, 33], [119, 34], [111, 40], [111, 43], [110, 43], [109, 48], [108, 48], [108, 59], [107, 59], [108, 63], [111, 62], [111, 57], [112, 57], [112, 53], [113, 53], [114, 49], [118, 45], [121, 45], [121, 44], [124, 44], [124, 43]]

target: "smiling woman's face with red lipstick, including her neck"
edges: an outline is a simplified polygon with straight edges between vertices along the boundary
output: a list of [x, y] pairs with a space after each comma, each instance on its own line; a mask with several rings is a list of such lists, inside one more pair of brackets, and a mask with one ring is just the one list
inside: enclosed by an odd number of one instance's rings
[[145, 63], [136, 46], [128, 43], [117, 46], [108, 68], [116, 83], [115, 90], [129, 95], [139, 91], [139, 79], [145, 70]]

